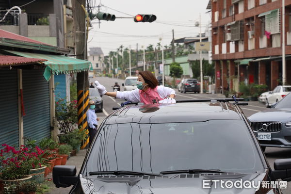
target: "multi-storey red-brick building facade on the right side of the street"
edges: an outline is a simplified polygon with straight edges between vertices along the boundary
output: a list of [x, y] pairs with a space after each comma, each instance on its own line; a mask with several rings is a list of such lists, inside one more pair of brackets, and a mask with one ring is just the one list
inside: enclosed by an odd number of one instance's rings
[[291, 84], [291, 0], [211, 0], [212, 59], [217, 88], [239, 82], [282, 84], [282, 25], [285, 25], [286, 75]]

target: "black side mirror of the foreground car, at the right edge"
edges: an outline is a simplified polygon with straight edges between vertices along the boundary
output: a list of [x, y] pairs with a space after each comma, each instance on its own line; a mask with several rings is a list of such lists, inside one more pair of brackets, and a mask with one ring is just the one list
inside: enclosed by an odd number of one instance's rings
[[272, 178], [291, 181], [291, 159], [277, 159], [274, 162]]

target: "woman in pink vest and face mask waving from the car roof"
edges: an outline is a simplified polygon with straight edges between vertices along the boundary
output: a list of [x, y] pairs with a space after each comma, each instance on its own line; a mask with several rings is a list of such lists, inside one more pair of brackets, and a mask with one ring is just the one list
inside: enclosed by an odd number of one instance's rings
[[123, 92], [107, 92], [106, 88], [95, 81], [96, 88], [101, 95], [127, 99], [131, 102], [143, 102], [144, 104], [172, 104], [176, 103], [175, 90], [162, 85], [150, 71], [141, 71], [136, 82], [137, 89]]

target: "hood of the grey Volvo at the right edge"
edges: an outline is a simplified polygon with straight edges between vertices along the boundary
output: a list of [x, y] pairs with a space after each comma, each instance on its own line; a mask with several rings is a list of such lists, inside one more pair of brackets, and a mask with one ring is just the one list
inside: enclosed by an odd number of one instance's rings
[[290, 122], [291, 109], [267, 109], [248, 117], [250, 121]]

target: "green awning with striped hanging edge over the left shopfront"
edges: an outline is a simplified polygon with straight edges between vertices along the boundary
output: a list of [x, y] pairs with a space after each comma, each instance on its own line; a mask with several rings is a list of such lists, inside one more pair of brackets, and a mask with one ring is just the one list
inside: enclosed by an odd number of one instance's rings
[[63, 55], [51, 55], [51, 54], [38, 54], [30, 52], [19, 52], [13, 50], [5, 50], [18, 56], [36, 58], [36, 59], [47, 59], [48, 61], [42, 62], [46, 65], [44, 77], [49, 81], [51, 74], [68, 74], [78, 73], [81, 71], [88, 71], [92, 68], [92, 64], [89, 61], [66, 57]]

